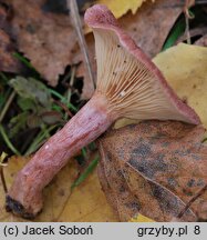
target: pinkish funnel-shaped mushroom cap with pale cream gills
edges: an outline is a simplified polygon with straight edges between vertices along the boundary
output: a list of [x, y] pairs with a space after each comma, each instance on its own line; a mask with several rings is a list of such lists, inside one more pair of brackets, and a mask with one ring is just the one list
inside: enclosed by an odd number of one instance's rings
[[106, 96], [117, 117], [200, 122], [105, 6], [87, 9], [85, 22], [95, 37], [96, 91]]

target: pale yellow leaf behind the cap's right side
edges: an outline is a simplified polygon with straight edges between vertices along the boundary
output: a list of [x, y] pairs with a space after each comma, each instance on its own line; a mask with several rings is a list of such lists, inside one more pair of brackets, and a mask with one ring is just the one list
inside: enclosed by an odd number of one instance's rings
[[207, 48], [180, 43], [157, 54], [153, 61], [207, 127]]

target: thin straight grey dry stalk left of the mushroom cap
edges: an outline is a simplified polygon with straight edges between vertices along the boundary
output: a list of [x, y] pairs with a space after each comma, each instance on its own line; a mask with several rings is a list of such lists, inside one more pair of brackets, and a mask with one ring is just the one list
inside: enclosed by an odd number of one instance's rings
[[80, 44], [81, 51], [83, 52], [83, 56], [84, 56], [89, 77], [90, 77], [91, 82], [93, 83], [93, 87], [95, 89], [95, 81], [94, 81], [94, 77], [92, 73], [92, 68], [91, 68], [91, 62], [90, 62], [89, 52], [87, 52], [87, 48], [86, 48], [85, 38], [84, 38], [84, 34], [82, 31], [81, 19], [79, 16], [79, 9], [77, 9], [76, 0], [68, 0], [66, 2], [68, 2], [68, 8], [70, 9], [71, 19], [74, 21], [74, 28], [75, 28], [76, 33], [77, 33], [79, 44]]

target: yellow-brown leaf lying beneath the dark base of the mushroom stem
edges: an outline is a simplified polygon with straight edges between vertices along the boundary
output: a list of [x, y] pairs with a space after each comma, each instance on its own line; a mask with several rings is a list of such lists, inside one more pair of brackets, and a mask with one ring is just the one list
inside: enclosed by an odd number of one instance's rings
[[[9, 160], [8, 167], [4, 168], [4, 178], [8, 187], [11, 186], [14, 174], [22, 169], [29, 161], [29, 158], [12, 157]], [[75, 163], [75, 162], [73, 162]], [[74, 181], [77, 174], [75, 164], [68, 164], [55, 177], [52, 183], [44, 191], [45, 208], [43, 212], [37, 217], [35, 221], [53, 221], [68, 201], [70, 192], [70, 184]], [[0, 221], [24, 221], [22, 218], [12, 216], [4, 210], [4, 194], [0, 182]]]

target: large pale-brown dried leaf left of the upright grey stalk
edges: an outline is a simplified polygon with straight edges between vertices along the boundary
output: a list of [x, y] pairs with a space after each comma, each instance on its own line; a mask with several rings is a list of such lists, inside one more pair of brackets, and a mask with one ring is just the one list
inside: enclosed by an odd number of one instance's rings
[[8, 0], [14, 14], [11, 21], [19, 50], [51, 86], [66, 66], [74, 63], [76, 34], [66, 14], [43, 10], [45, 0]]

